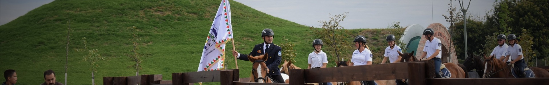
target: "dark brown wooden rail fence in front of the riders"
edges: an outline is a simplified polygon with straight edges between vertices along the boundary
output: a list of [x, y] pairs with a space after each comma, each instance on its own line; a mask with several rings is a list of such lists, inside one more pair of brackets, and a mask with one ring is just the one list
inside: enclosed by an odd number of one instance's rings
[[239, 70], [215, 70], [173, 73], [173, 80], [162, 80], [162, 75], [103, 77], [104, 85], [188, 85], [197, 82], [221, 82], [221, 85], [304, 85], [316, 82], [346, 82], [408, 79], [411, 85], [435, 84], [549, 84], [549, 78], [429, 78], [432, 65], [425, 62], [402, 62], [320, 69], [291, 69], [288, 83], [240, 82]]

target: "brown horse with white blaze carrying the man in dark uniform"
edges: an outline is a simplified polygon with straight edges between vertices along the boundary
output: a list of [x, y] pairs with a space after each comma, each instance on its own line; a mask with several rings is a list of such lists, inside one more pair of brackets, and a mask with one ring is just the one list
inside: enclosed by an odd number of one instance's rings
[[273, 83], [272, 78], [268, 75], [269, 69], [267, 68], [267, 64], [265, 64], [265, 61], [268, 59], [267, 53], [255, 57], [248, 56], [248, 59], [253, 63], [251, 66], [250, 82]]

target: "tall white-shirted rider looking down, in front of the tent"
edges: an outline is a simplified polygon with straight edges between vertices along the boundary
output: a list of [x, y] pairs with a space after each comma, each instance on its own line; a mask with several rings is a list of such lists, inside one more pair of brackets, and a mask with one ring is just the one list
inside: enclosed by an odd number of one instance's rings
[[[423, 47], [423, 53], [421, 58], [427, 57], [425, 60], [433, 59], [435, 62], [435, 68], [439, 68], [442, 61], [440, 60], [442, 55], [442, 47], [440, 39], [433, 37], [434, 31], [432, 28], [427, 28], [423, 31], [423, 35], [425, 35], [425, 47]], [[440, 78], [439, 74], [440, 69], [435, 69], [435, 76]]]

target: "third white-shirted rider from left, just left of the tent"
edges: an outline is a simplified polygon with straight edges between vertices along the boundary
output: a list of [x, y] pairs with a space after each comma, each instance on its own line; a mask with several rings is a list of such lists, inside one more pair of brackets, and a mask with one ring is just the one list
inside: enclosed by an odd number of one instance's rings
[[399, 46], [395, 45], [395, 35], [389, 34], [386, 38], [386, 41], [388, 42], [389, 46], [385, 48], [385, 57], [382, 60], [382, 64], [387, 62], [387, 58], [389, 58], [389, 63], [396, 63], [400, 62], [400, 59], [402, 58], [400, 54], [402, 54], [402, 49]]

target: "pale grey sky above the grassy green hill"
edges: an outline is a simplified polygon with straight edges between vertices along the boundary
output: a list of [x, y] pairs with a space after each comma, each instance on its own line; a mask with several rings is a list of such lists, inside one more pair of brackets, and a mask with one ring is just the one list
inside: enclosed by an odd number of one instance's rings
[[[0, 0], [0, 25], [23, 16], [32, 9], [53, 0]], [[318, 21], [328, 21], [330, 15], [349, 12], [340, 22], [345, 29], [386, 28], [393, 22], [401, 26], [419, 24], [427, 27], [431, 23], [449, 26], [443, 14], [449, 9], [450, 0], [234, 0], [263, 13], [299, 23], [319, 27]], [[468, 16], [484, 17], [495, 0], [471, 1]], [[469, 1], [465, 1], [468, 3]], [[453, 4], [458, 6], [457, 1]], [[465, 5], [467, 6], [467, 5]], [[467, 7], [465, 7], [467, 8]]]

